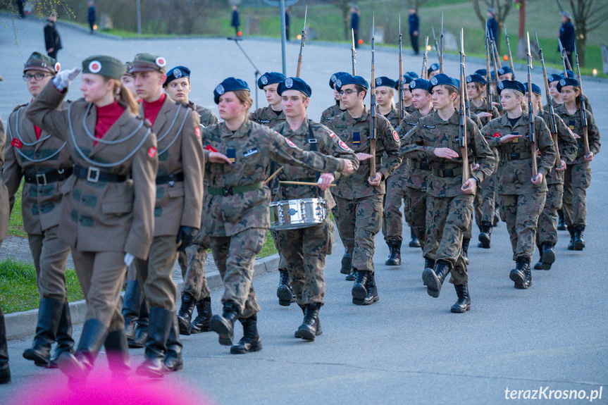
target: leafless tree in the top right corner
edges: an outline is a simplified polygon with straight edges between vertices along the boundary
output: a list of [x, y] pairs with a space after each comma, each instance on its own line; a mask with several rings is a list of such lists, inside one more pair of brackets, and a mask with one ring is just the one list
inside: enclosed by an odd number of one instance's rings
[[[559, 0], [555, 0], [560, 11], [564, 11]], [[608, 19], [608, 4], [605, 0], [568, 0], [576, 28], [576, 51], [581, 66], [585, 66], [585, 48], [587, 35], [597, 30]]]

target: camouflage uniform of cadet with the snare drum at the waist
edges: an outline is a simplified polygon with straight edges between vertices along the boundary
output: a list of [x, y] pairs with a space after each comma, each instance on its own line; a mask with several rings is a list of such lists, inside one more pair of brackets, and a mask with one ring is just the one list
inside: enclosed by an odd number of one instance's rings
[[[308, 118], [297, 130], [292, 130], [286, 122], [278, 125], [274, 130], [290, 139], [302, 150], [318, 150], [321, 154], [347, 158], [353, 162], [353, 166], [359, 166], [354, 152], [343, 142], [344, 146], [341, 146], [333, 132], [324, 125], [313, 123]], [[315, 147], [311, 147], [313, 144]], [[333, 173], [333, 175], [336, 180], [340, 178], [340, 173]], [[314, 171], [294, 166], [283, 166], [283, 171], [278, 177], [279, 180], [316, 182]], [[328, 212], [335, 206], [329, 189], [321, 192], [316, 186], [280, 185], [275, 201], [315, 197], [325, 200], [325, 208]], [[326, 216], [320, 225], [277, 231], [278, 244], [285, 255], [291, 285], [299, 306], [317, 302], [323, 304], [324, 302], [325, 276], [323, 270], [325, 254], [330, 254], [332, 250], [332, 233], [333, 222], [329, 216]]]

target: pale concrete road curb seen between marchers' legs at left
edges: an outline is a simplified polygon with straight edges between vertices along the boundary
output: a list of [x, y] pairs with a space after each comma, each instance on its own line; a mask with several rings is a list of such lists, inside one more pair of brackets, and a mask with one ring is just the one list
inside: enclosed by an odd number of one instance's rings
[[[257, 259], [254, 264], [254, 277], [259, 277], [264, 273], [268, 273], [278, 269], [279, 256], [273, 254], [265, 258]], [[218, 271], [213, 271], [206, 274], [207, 285], [209, 289], [223, 287], [223, 282]], [[178, 291], [182, 289], [183, 282], [178, 282]], [[80, 301], [70, 302], [70, 315], [72, 316], [73, 325], [85, 322], [87, 315], [87, 303], [84, 299]], [[7, 339], [18, 339], [27, 335], [32, 335], [36, 332], [36, 324], [38, 323], [38, 309], [30, 309], [29, 311], [8, 313], [4, 316], [6, 323]]]

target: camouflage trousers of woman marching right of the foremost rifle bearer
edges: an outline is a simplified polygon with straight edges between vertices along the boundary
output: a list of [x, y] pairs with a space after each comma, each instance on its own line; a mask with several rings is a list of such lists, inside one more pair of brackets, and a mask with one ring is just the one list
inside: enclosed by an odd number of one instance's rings
[[536, 226], [547, 193], [500, 194], [500, 216], [507, 223], [513, 248], [513, 260], [532, 259], [536, 242]]

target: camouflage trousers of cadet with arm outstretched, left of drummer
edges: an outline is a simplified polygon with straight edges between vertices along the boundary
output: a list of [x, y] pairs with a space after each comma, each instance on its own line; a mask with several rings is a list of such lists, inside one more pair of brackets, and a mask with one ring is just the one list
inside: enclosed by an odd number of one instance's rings
[[249, 228], [228, 237], [210, 237], [213, 259], [224, 282], [222, 304], [234, 302], [241, 318], [260, 310], [253, 285], [254, 262], [267, 234], [265, 228]]

